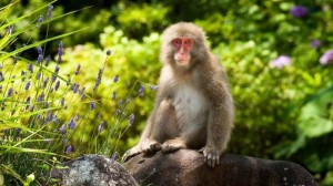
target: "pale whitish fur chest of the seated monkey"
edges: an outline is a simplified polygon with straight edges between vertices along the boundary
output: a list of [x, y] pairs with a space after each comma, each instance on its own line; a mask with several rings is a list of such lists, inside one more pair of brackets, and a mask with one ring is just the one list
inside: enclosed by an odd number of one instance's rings
[[[204, 95], [196, 89], [186, 85], [179, 87], [173, 103], [180, 127], [189, 128], [188, 125], [201, 127], [205, 124], [208, 103]], [[193, 128], [193, 126], [190, 128]]]

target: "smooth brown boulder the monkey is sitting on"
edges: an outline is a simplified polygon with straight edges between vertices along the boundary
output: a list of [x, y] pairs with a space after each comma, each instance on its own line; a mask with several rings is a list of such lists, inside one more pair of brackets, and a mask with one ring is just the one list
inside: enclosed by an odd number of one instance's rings
[[312, 175], [302, 166], [284, 161], [225, 154], [210, 168], [196, 151], [161, 152], [150, 157], [138, 155], [124, 163], [142, 185], [157, 186], [313, 186]]

